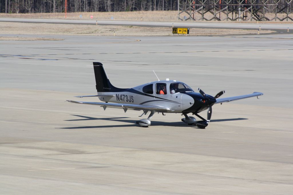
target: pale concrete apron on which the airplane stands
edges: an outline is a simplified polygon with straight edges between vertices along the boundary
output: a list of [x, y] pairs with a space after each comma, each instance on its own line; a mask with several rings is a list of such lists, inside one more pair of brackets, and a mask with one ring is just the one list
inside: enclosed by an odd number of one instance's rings
[[[9, 36], [9, 35], [4, 35]], [[11, 35], [15, 36], [15, 35]], [[0, 41], [0, 194], [292, 194], [293, 35]], [[206, 129], [180, 114], [65, 100], [170, 78], [222, 97]], [[201, 113], [206, 117], [206, 113]]]

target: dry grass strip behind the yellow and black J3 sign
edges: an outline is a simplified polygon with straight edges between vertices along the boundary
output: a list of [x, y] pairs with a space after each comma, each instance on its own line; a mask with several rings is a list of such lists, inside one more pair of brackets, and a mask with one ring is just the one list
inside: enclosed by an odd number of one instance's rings
[[[139, 26], [111, 26], [111, 25], [77, 25], [77, 24], [46, 24], [46, 23], [14, 23], [1, 22], [1, 34], [26, 35], [103, 35], [113, 36], [171, 36], [172, 28], [150, 28]], [[257, 34], [258, 30], [241, 29], [204, 29], [190, 28], [192, 36], [199, 35], [236, 35]], [[275, 31], [262, 30], [260, 33]], [[181, 35], [182, 36], [182, 35]]]

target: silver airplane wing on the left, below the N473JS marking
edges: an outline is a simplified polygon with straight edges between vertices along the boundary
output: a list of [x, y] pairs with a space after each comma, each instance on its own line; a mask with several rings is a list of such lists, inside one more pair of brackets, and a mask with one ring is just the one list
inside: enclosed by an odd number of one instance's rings
[[[67, 102], [77, 103], [77, 104], [89, 104], [89, 105], [97, 105], [104, 107], [111, 107], [111, 108], [120, 108], [120, 109], [130, 109], [130, 110], [150, 110], [155, 112], [168, 112], [171, 111], [170, 108], [164, 106], [147, 106], [147, 105], [139, 105], [139, 104], [118, 104], [118, 103], [104, 103], [104, 102], [80, 102], [80, 101], [73, 101], [73, 100], [66, 100]], [[126, 111], [125, 111], [126, 112]]]

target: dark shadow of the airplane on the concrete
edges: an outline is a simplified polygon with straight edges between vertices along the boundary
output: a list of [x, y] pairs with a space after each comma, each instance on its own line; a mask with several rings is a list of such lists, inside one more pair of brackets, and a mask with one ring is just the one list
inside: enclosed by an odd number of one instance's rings
[[[81, 115], [74, 115], [72, 116], [81, 117], [82, 119], [71, 119], [71, 120], [64, 120], [64, 121], [84, 121], [84, 120], [106, 120], [106, 121], [116, 121], [116, 122], [125, 122], [130, 124], [124, 125], [99, 125], [99, 126], [76, 126], [76, 127], [62, 127], [56, 129], [90, 129], [90, 128], [108, 128], [108, 127], [131, 127], [131, 126], [138, 126], [136, 124], [136, 120], [123, 120], [128, 119], [130, 117], [110, 117], [110, 118], [94, 118], [94, 117], [87, 117]], [[245, 118], [234, 118], [234, 119], [216, 119], [211, 120], [211, 122], [222, 122], [222, 121], [234, 121], [234, 120], [246, 120]], [[162, 121], [151, 121], [151, 126], [174, 126], [174, 127], [194, 127], [186, 125], [183, 122], [162, 122]], [[195, 127], [197, 128], [197, 127]]]

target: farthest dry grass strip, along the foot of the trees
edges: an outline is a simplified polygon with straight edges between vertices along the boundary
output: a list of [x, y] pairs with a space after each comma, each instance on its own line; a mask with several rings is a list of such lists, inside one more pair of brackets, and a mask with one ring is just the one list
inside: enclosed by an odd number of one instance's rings
[[[80, 19], [80, 15], [82, 15], [81, 19], [90, 19], [90, 16], [93, 15], [92, 20], [145, 20], [145, 21], [178, 21], [178, 11], [131, 11], [131, 12], [74, 12], [67, 13], [68, 19]], [[277, 17], [284, 18], [286, 14], [278, 13]], [[182, 13], [180, 15], [181, 18], [184, 16], [188, 17], [188, 14]], [[275, 17], [275, 14], [268, 13], [265, 15], [267, 18], [272, 19]], [[289, 14], [291, 18], [293, 18], [293, 13]], [[0, 17], [16, 17], [16, 18], [65, 18], [65, 13], [0, 13]], [[113, 19], [112, 19], [113, 17]], [[206, 13], [205, 18], [210, 19], [213, 15], [211, 13]], [[217, 17], [225, 18], [226, 15], [224, 13], [218, 13]], [[232, 13], [229, 14], [229, 17], [232, 18]], [[250, 18], [250, 14], [248, 14], [248, 18]], [[199, 13], [195, 13], [194, 18], [197, 21], [201, 21], [201, 15]], [[235, 15], [234, 15], [235, 18]], [[190, 20], [189, 20], [190, 21]], [[207, 22], [207, 21], [205, 21]], [[222, 21], [225, 22], [225, 21]], [[229, 22], [238, 22], [238, 21], [229, 21]], [[241, 21], [241, 22], [251, 22], [249, 21]], [[255, 21], [254, 21], [255, 22]], [[275, 22], [275, 21], [270, 21]], [[280, 22], [280, 21], [277, 21]], [[290, 22], [292, 21], [282, 21]]]

